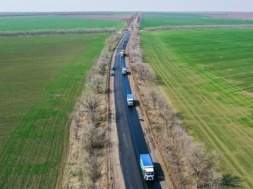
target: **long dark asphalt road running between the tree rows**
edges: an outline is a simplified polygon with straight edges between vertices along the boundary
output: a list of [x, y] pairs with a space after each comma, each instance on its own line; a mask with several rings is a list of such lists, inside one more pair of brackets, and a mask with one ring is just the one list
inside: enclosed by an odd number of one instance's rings
[[120, 163], [127, 189], [158, 189], [162, 188], [158, 181], [149, 183], [142, 177], [139, 156], [140, 154], [149, 153], [149, 150], [144, 139], [136, 108], [135, 106], [128, 107], [126, 101], [127, 94], [132, 92], [128, 76], [121, 73], [122, 66], [125, 66], [125, 58], [121, 57], [120, 51], [125, 49], [124, 41], [127, 43], [129, 37], [130, 32], [127, 32], [118, 46], [114, 61], [114, 94]]

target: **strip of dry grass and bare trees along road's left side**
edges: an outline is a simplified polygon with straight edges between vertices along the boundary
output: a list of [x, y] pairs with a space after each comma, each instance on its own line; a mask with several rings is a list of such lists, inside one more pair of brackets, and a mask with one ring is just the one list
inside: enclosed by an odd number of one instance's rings
[[[102, 52], [98, 60], [90, 70], [85, 83], [85, 91], [76, 104], [76, 111], [70, 126], [69, 153], [63, 175], [63, 188], [106, 188], [108, 181], [108, 97], [107, 97], [107, 77], [110, 77], [109, 63], [118, 39], [108, 40], [108, 52]], [[110, 48], [109, 48], [110, 46]], [[106, 56], [106, 57], [105, 57]], [[104, 72], [101, 72], [100, 62], [105, 61]], [[102, 75], [99, 75], [102, 74]], [[101, 90], [91, 87], [93, 78], [97, 76], [103, 78]], [[98, 99], [99, 103], [95, 112], [87, 109], [85, 100], [88, 97]], [[90, 98], [91, 100], [93, 98]], [[91, 108], [91, 107], [90, 107]], [[94, 116], [94, 117], [93, 117]]]

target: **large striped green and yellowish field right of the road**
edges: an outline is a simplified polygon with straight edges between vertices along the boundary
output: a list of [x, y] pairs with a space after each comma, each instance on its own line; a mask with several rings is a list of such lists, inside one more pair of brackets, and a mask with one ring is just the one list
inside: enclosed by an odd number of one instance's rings
[[253, 188], [253, 30], [143, 32], [145, 60], [185, 128], [215, 149], [222, 173]]

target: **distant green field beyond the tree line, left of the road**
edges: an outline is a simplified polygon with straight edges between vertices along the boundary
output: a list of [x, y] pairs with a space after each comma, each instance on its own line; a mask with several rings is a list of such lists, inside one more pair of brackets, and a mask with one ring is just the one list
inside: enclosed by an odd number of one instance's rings
[[27, 31], [49, 29], [115, 28], [119, 30], [122, 21], [74, 18], [67, 16], [11, 16], [0, 17], [0, 31]]

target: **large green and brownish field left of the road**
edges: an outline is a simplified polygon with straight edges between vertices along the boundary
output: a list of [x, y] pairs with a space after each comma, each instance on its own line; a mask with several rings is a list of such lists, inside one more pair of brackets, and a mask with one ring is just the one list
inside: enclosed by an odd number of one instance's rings
[[74, 104], [109, 34], [1, 38], [0, 188], [54, 188]]

